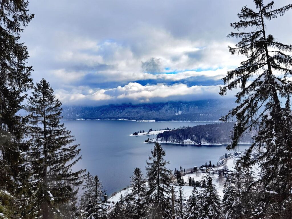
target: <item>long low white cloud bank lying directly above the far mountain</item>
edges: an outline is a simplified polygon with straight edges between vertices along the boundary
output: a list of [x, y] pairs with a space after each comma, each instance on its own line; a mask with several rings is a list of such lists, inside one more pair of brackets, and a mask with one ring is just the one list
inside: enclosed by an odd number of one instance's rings
[[[163, 102], [169, 100], [201, 100], [220, 98], [219, 85], [187, 86], [185, 84], [141, 85], [130, 82], [125, 86], [110, 89], [93, 90], [88, 87], [73, 89], [68, 92], [57, 90], [56, 97], [65, 105], [104, 105], [111, 103]], [[228, 95], [230, 97], [230, 94]]]

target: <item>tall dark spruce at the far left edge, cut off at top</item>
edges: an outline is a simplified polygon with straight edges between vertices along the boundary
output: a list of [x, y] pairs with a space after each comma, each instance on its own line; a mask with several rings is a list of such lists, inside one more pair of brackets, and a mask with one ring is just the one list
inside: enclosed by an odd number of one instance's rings
[[27, 6], [23, 0], [0, 1], [0, 192], [11, 194], [9, 201], [5, 201], [6, 196], [0, 198], [0, 206], [13, 212], [11, 218], [13, 214], [21, 217], [18, 213], [25, 211], [29, 191], [24, 123], [16, 114], [23, 109], [24, 92], [33, 86], [27, 46], [19, 42], [20, 34], [34, 17]]

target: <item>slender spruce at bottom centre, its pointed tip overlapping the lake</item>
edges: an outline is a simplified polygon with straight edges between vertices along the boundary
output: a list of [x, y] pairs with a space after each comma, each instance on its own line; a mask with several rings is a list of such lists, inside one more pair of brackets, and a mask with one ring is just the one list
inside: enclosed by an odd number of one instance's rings
[[147, 162], [147, 177], [149, 188], [146, 191], [148, 203], [147, 219], [171, 218], [171, 170], [166, 168], [169, 161], [164, 160], [165, 150], [157, 142], [152, 157]]

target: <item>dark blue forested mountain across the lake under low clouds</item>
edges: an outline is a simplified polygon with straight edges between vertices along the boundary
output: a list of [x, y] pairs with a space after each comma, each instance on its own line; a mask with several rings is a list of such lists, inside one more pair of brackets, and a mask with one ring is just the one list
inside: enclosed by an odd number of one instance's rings
[[64, 106], [64, 119], [129, 119], [156, 121], [218, 121], [235, 106], [233, 99], [104, 105]]

